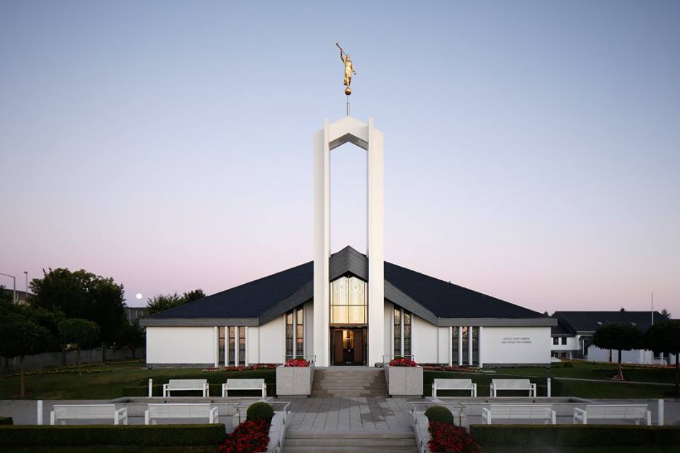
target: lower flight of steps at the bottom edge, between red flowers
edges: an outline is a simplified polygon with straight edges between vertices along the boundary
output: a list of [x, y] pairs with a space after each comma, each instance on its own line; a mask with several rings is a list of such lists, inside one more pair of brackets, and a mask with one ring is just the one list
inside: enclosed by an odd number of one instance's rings
[[413, 431], [291, 431], [285, 433], [283, 453], [412, 452]]

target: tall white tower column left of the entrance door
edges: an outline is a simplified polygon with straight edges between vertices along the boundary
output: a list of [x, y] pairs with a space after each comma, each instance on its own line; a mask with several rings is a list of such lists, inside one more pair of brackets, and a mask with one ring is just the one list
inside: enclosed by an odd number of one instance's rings
[[[331, 246], [329, 126], [314, 134], [314, 354], [329, 366], [329, 269]], [[285, 321], [284, 321], [285, 322]], [[285, 356], [285, 345], [284, 352]]]

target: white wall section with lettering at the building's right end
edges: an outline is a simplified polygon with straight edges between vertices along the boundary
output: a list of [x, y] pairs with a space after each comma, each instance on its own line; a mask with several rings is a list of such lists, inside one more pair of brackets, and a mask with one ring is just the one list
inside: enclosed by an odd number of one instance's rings
[[485, 327], [480, 338], [485, 364], [550, 363], [550, 327]]

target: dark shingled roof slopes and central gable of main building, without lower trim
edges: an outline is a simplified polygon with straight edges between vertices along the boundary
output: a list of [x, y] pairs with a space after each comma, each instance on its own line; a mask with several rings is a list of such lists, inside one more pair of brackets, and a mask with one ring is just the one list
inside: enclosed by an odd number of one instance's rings
[[[365, 278], [360, 275], [367, 268], [362, 260], [367, 261], [368, 258], [353, 248], [346, 247], [331, 256], [331, 273], [337, 275], [353, 273]], [[302, 294], [302, 297], [307, 297], [307, 292], [300, 289], [310, 285], [313, 278], [314, 263], [310, 261], [189, 304], [162, 311], [148, 316], [147, 319], [258, 318], [296, 292]], [[536, 311], [392, 263], [385, 262], [385, 280], [440, 318], [545, 317]], [[311, 297], [310, 294], [307, 300]]]

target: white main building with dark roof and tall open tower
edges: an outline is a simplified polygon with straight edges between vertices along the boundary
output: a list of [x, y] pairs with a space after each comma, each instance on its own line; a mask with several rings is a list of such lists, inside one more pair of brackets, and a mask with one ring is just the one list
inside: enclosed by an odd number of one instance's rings
[[[329, 153], [346, 142], [367, 153], [366, 254], [329, 251]], [[549, 365], [555, 319], [383, 260], [382, 173], [372, 119], [326, 120], [314, 134], [314, 260], [142, 319], [147, 363]]]

